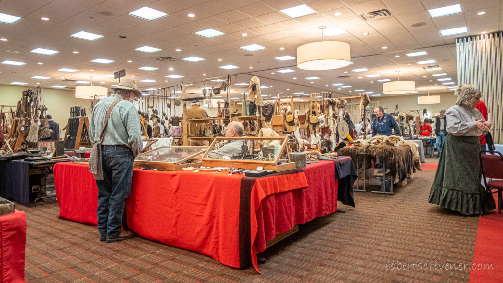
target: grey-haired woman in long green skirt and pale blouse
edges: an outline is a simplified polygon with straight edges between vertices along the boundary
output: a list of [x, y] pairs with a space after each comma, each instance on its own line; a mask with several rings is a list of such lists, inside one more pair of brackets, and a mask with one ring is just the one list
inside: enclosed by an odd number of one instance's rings
[[464, 215], [481, 214], [482, 207], [484, 211], [496, 207], [490, 194], [484, 197], [480, 182], [479, 135], [486, 134], [491, 123], [475, 108], [480, 91], [464, 84], [454, 95], [458, 99], [445, 113], [449, 134], [442, 147], [429, 202]]

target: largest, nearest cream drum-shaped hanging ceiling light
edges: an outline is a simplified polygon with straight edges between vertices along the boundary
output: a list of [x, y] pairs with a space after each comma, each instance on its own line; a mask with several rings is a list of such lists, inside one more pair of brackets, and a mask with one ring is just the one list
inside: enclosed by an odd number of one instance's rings
[[[323, 29], [320, 26], [321, 40]], [[311, 42], [297, 47], [297, 67], [304, 70], [331, 70], [351, 63], [349, 44], [341, 41]]]

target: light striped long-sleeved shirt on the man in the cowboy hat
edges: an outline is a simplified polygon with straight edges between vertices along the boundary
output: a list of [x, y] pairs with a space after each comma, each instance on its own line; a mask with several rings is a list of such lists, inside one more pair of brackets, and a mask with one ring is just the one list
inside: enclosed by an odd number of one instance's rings
[[[100, 134], [105, 122], [107, 110], [115, 100], [122, 98], [118, 94], [102, 98], [93, 109], [89, 125], [89, 137], [93, 143], [100, 141]], [[141, 139], [140, 118], [134, 105], [127, 101], [117, 103], [108, 119], [103, 146], [128, 146], [136, 157], [143, 146]]]

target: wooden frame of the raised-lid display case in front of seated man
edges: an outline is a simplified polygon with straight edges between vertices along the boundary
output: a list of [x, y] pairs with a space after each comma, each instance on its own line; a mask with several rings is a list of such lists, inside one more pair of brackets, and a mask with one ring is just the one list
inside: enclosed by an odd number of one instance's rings
[[[208, 158], [208, 154], [215, 148], [215, 145], [217, 144], [218, 141], [220, 140], [272, 140], [272, 139], [279, 139], [282, 140], [283, 143], [281, 145], [281, 148], [279, 150], [278, 155], [274, 159], [274, 161], [267, 161], [267, 160], [250, 160], [250, 159], [213, 159], [213, 158]], [[255, 143], [254, 143], [255, 144]], [[203, 158], [201, 159], [203, 161], [203, 166], [205, 167], [234, 167], [234, 168], [243, 168], [243, 169], [248, 169], [248, 170], [256, 170], [257, 167], [262, 166], [264, 170], [273, 170], [276, 172], [283, 172], [291, 169], [295, 169], [295, 162], [290, 162], [290, 159], [288, 160], [289, 162], [287, 163], [282, 163], [278, 165], [278, 162], [281, 159], [281, 156], [283, 153], [286, 154], [287, 158], [288, 153], [286, 152], [287, 150], [287, 144], [288, 144], [288, 136], [237, 136], [237, 137], [226, 137], [226, 136], [216, 136], [215, 139], [213, 139], [213, 142], [210, 144], [210, 147], [204, 154]]]

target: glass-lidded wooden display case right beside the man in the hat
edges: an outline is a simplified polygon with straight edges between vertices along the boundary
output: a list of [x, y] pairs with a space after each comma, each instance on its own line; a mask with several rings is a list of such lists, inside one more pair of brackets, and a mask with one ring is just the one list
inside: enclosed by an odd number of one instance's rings
[[201, 167], [200, 157], [208, 147], [160, 147], [139, 154], [133, 168], [161, 171], [182, 170], [184, 167]]

